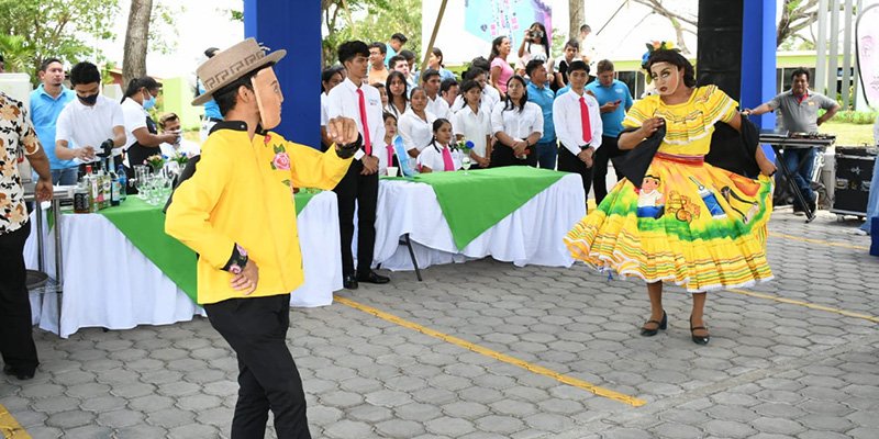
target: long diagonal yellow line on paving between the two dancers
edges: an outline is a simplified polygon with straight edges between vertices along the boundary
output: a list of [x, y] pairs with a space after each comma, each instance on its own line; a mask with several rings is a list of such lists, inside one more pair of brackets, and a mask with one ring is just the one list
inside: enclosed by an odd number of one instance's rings
[[376, 316], [378, 318], [381, 318], [383, 320], [388, 320], [388, 322], [393, 323], [396, 325], [400, 325], [402, 327], [405, 327], [405, 328], [409, 328], [409, 329], [412, 329], [412, 330], [416, 330], [416, 331], [419, 331], [421, 334], [424, 334], [426, 336], [438, 338], [438, 339], [441, 339], [443, 341], [446, 341], [446, 342], [449, 342], [452, 345], [461, 347], [464, 349], [471, 350], [474, 352], [483, 354], [486, 357], [493, 358], [493, 359], [496, 359], [498, 361], [502, 361], [502, 362], [505, 362], [508, 364], [513, 364], [515, 367], [525, 369], [528, 372], [533, 372], [533, 373], [536, 373], [536, 374], [539, 374], [539, 375], [552, 378], [552, 379], [557, 380], [557, 381], [559, 381], [561, 383], [565, 383], [565, 384], [568, 384], [568, 385], [572, 385], [575, 387], [582, 389], [582, 390], [585, 390], [587, 392], [591, 392], [591, 393], [593, 393], [593, 394], [596, 394], [598, 396], [603, 396], [605, 398], [619, 401], [619, 402], [621, 402], [623, 404], [628, 404], [628, 405], [631, 405], [633, 407], [639, 407], [639, 406], [642, 406], [642, 405], [647, 403], [644, 399], [639, 399], [639, 398], [636, 398], [634, 396], [628, 396], [628, 395], [625, 395], [625, 394], [622, 394], [622, 393], [619, 393], [619, 392], [614, 392], [614, 391], [611, 391], [611, 390], [608, 390], [608, 389], [604, 389], [604, 387], [600, 387], [600, 386], [597, 386], [597, 385], [594, 385], [592, 383], [589, 383], [587, 381], [583, 381], [583, 380], [580, 380], [580, 379], [576, 379], [574, 376], [568, 376], [568, 375], [561, 374], [561, 373], [558, 373], [556, 371], [553, 371], [550, 369], [541, 367], [541, 365], [531, 364], [531, 363], [528, 363], [526, 361], [523, 361], [523, 360], [520, 360], [520, 359], [518, 359], [515, 357], [511, 357], [511, 356], [508, 356], [505, 353], [501, 353], [501, 352], [498, 352], [496, 350], [491, 350], [491, 349], [483, 348], [481, 346], [471, 344], [471, 342], [469, 342], [467, 340], [463, 340], [460, 338], [457, 338], [457, 337], [454, 337], [454, 336], [449, 336], [447, 334], [443, 334], [443, 333], [439, 333], [437, 330], [433, 330], [431, 328], [421, 326], [421, 325], [419, 325], [416, 323], [409, 322], [409, 320], [407, 320], [404, 318], [398, 317], [398, 316], [396, 316], [393, 314], [388, 314], [388, 313], [385, 313], [382, 311], [376, 309], [376, 308], [374, 308], [371, 306], [359, 304], [359, 303], [354, 302], [354, 301], [352, 301], [349, 299], [335, 296], [335, 301], [341, 303], [341, 304], [351, 306], [351, 307], [353, 307], [355, 309], [359, 309], [359, 311], [361, 311], [364, 313], [371, 314], [371, 315], [374, 315], [374, 316]]

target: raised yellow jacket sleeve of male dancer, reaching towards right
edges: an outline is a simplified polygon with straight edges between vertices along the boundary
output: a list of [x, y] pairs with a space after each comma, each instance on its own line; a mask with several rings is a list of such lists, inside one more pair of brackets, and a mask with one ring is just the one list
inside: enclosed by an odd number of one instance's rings
[[290, 172], [293, 185], [297, 188], [318, 188], [332, 190], [348, 171], [352, 158], [341, 158], [335, 146], [325, 153], [312, 147], [288, 142], [291, 153]]

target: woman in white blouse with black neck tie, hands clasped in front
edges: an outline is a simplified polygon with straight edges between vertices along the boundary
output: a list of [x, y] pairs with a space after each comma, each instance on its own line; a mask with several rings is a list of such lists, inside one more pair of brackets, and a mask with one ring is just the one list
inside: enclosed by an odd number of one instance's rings
[[543, 112], [528, 102], [525, 79], [519, 75], [507, 81], [507, 101], [491, 112], [491, 131], [498, 142], [491, 150], [491, 167], [537, 166], [535, 144], [543, 136]]

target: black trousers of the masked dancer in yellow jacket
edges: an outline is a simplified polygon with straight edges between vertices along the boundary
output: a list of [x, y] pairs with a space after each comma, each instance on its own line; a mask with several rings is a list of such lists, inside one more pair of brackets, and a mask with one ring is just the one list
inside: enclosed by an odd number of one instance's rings
[[278, 439], [310, 439], [302, 380], [287, 349], [290, 294], [230, 299], [204, 311], [238, 357], [232, 439], [264, 438], [269, 409]]

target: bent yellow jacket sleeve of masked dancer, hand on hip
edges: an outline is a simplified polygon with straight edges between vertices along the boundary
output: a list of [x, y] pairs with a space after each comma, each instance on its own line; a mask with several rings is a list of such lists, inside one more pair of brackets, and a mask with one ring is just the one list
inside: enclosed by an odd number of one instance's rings
[[165, 218], [165, 233], [198, 252], [211, 267], [222, 269], [233, 254], [235, 241], [215, 228], [211, 212], [231, 179], [233, 162], [219, 151], [220, 145], [202, 151], [196, 172], [174, 191]]

